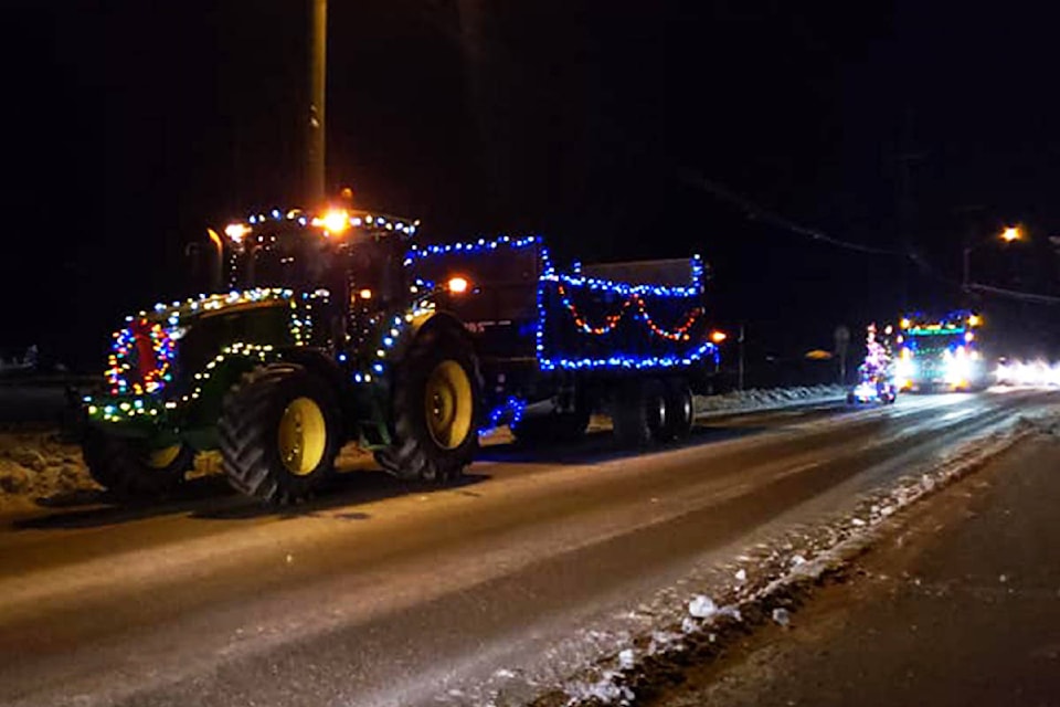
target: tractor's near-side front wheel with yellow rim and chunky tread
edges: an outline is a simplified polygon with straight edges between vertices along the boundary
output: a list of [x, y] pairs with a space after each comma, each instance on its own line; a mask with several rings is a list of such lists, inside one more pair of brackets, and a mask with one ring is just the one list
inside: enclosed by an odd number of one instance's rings
[[275, 505], [312, 496], [342, 444], [335, 393], [294, 363], [244, 374], [224, 398], [218, 429], [229, 483]]

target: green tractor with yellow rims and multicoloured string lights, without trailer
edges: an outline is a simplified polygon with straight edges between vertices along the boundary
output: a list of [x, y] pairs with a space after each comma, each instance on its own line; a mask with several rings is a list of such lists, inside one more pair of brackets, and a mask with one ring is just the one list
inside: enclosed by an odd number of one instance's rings
[[481, 377], [462, 323], [405, 266], [416, 225], [295, 210], [211, 231], [230, 291], [127, 317], [107, 389], [80, 400], [93, 477], [157, 496], [198, 452], [220, 450], [236, 489], [289, 504], [350, 441], [400, 477], [458, 477], [477, 446]]

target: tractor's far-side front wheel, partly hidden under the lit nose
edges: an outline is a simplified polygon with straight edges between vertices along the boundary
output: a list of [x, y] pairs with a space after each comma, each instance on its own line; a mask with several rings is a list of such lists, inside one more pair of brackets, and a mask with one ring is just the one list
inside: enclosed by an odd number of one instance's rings
[[166, 496], [184, 481], [195, 458], [186, 444], [151, 449], [147, 442], [107, 434], [95, 428], [85, 432], [82, 454], [97, 484], [120, 498]]

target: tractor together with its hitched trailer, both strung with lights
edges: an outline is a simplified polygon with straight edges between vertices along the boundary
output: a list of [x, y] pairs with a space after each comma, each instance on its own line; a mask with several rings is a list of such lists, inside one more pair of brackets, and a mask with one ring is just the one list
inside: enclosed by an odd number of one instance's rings
[[210, 231], [224, 287], [127, 317], [80, 398], [94, 478], [161, 494], [220, 450], [236, 489], [287, 504], [349, 442], [452, 481], [505, 424], [562, 442], [601, 411], [627, 446], [689, 434], [723, 338], [698, 256], [564, 271], [538, 236], [421, 245], [417, 225], [293, 210]]

